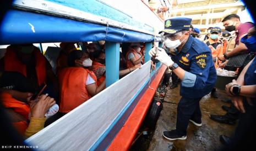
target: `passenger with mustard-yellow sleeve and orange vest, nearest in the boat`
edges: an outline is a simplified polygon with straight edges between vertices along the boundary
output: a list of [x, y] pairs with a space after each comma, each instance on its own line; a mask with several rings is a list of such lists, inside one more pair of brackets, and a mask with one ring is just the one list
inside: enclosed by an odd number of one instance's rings
[[[32, 85], [30, 84], [29, 79], [19, 72], [0, 72], [0, 88], [0, 102], [10, 113], [10, 118], [13, 119], [13, 125], [17, 128], [20, 134], [25, 137], [29, 137], [41, 130], [46, 121], [45, 117], [50, 117], [57, 112], [57, 110], [55, 110], [53, 113], [52, 110], [57, 104], [54, 104], [54, 106], [52, 106], [53, 108], [51, 106], [45, 108], [45, 103], [47, 102], [36, 104], [40, 101], [30, 101], [31, 96], [33, 95], [31, 93], [31, 91], [33, 91]], [[53, 98], [52, 102], [55, 103]], [[34, 105], [39, 107], [35, 108]], [[51, 109], [48, 111], [49, 108]], [[35, 115], [35, 112], [40, 113], [40, 116]], [[37, 119], [39, 117], [41, 118]], [[29, 123], [29, 121], [31, 122]], [[28, 129], [28, 126], [30, 129]], [[31, 128], [35, 130], [31, 130]]]

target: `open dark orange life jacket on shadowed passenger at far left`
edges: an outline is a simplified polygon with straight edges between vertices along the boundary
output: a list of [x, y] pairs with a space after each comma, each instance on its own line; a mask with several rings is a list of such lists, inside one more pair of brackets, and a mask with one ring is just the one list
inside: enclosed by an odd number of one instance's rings
[[[15, 47], [10, 45], [6, 49], [6, 54], [4, 55], [4, 70], [5, 71], [16, 71], [23, 74], [26, 77], [26, 65], [22, 63], [18, 57]], [[41, 85], [46, 82], [46, 61], [43, 54], [36, 47], [34, 48], [35, 63], [36, 63], [36, 75], [37, 83]]]

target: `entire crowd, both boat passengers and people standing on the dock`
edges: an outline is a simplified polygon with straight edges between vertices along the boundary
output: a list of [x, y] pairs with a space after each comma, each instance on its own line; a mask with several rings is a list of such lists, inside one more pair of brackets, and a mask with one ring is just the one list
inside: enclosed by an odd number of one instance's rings
[[[227, 111], [225, 115], [210, 114], [210, 118], [231, 125], [239, 119], [235, 136], [220, 136], [222, 143], [232, 144], [228, 149], [237, 146], [237, 142], [252, 142], [256, 126], [254, 24], [242, 23], [238, 15], [231, 14], [222, 20], [225, 31], [209, 27], [208, 34], [202, 37], [191, 21], [189, 18], [166, 20], [165, 30], [160, 32], [164, 49], [149, 51], [151, 57], [155, 56], [172, 70], [171, 89], [181, 82], [176, 129], [165, 131], [163, 136], [168, 140], [186, 140], [189, 121], [202, 125], [199, 101], [210, 92], [212, 97], [218, 97], [216, 69], [225, 68], [238, 75], [226, 85], [231, 99], [223, 101], [231, 105], [222, 106]], [[231, 49], [234, 38], [235, 47]], [[0, 60], [0, 100], [13, 125], [25, 138], [106, 88], [105, 43], [83, 42], [77, 43], [77, 47], [75, 44], [59, 45], [56, 71], [33, 44], [9, 45]], [[119, 76], [123, 77], [143, 65], [145, 43], [122, 43], [121, 50]]]

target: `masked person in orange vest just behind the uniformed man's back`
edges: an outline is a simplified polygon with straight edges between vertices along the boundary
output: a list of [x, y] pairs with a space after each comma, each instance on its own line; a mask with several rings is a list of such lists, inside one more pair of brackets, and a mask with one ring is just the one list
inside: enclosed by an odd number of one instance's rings
[[[219, 63], [221, 63], [221, 61], [218, 60], [217, 58], [223, 54], [222, 40], [218, 38], [220, 36], [221, 36], [221, 28], [214, 27], [211, 29], [210, 38], [204, 40], [204, 43], [208, 45], [208, 47], [211, 49], [211, 55], [213, 56], [213, 62], [214, 62], [215, 68], [218, 67]], [[213, 88], [213, 90], [211, 90], [211, 96], [217, 98], [216, 88]]]

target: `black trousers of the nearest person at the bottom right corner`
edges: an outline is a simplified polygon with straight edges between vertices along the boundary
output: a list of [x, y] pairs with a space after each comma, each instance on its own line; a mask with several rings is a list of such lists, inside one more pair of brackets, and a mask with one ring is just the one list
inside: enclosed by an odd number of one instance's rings
[[256, 149], [256, 102], [254, 102], [254, 106], [249, 106], [247, 101], [243, 101], [243, 104], [246, 113], [240, 114], [235, 137], [224, 150]]

